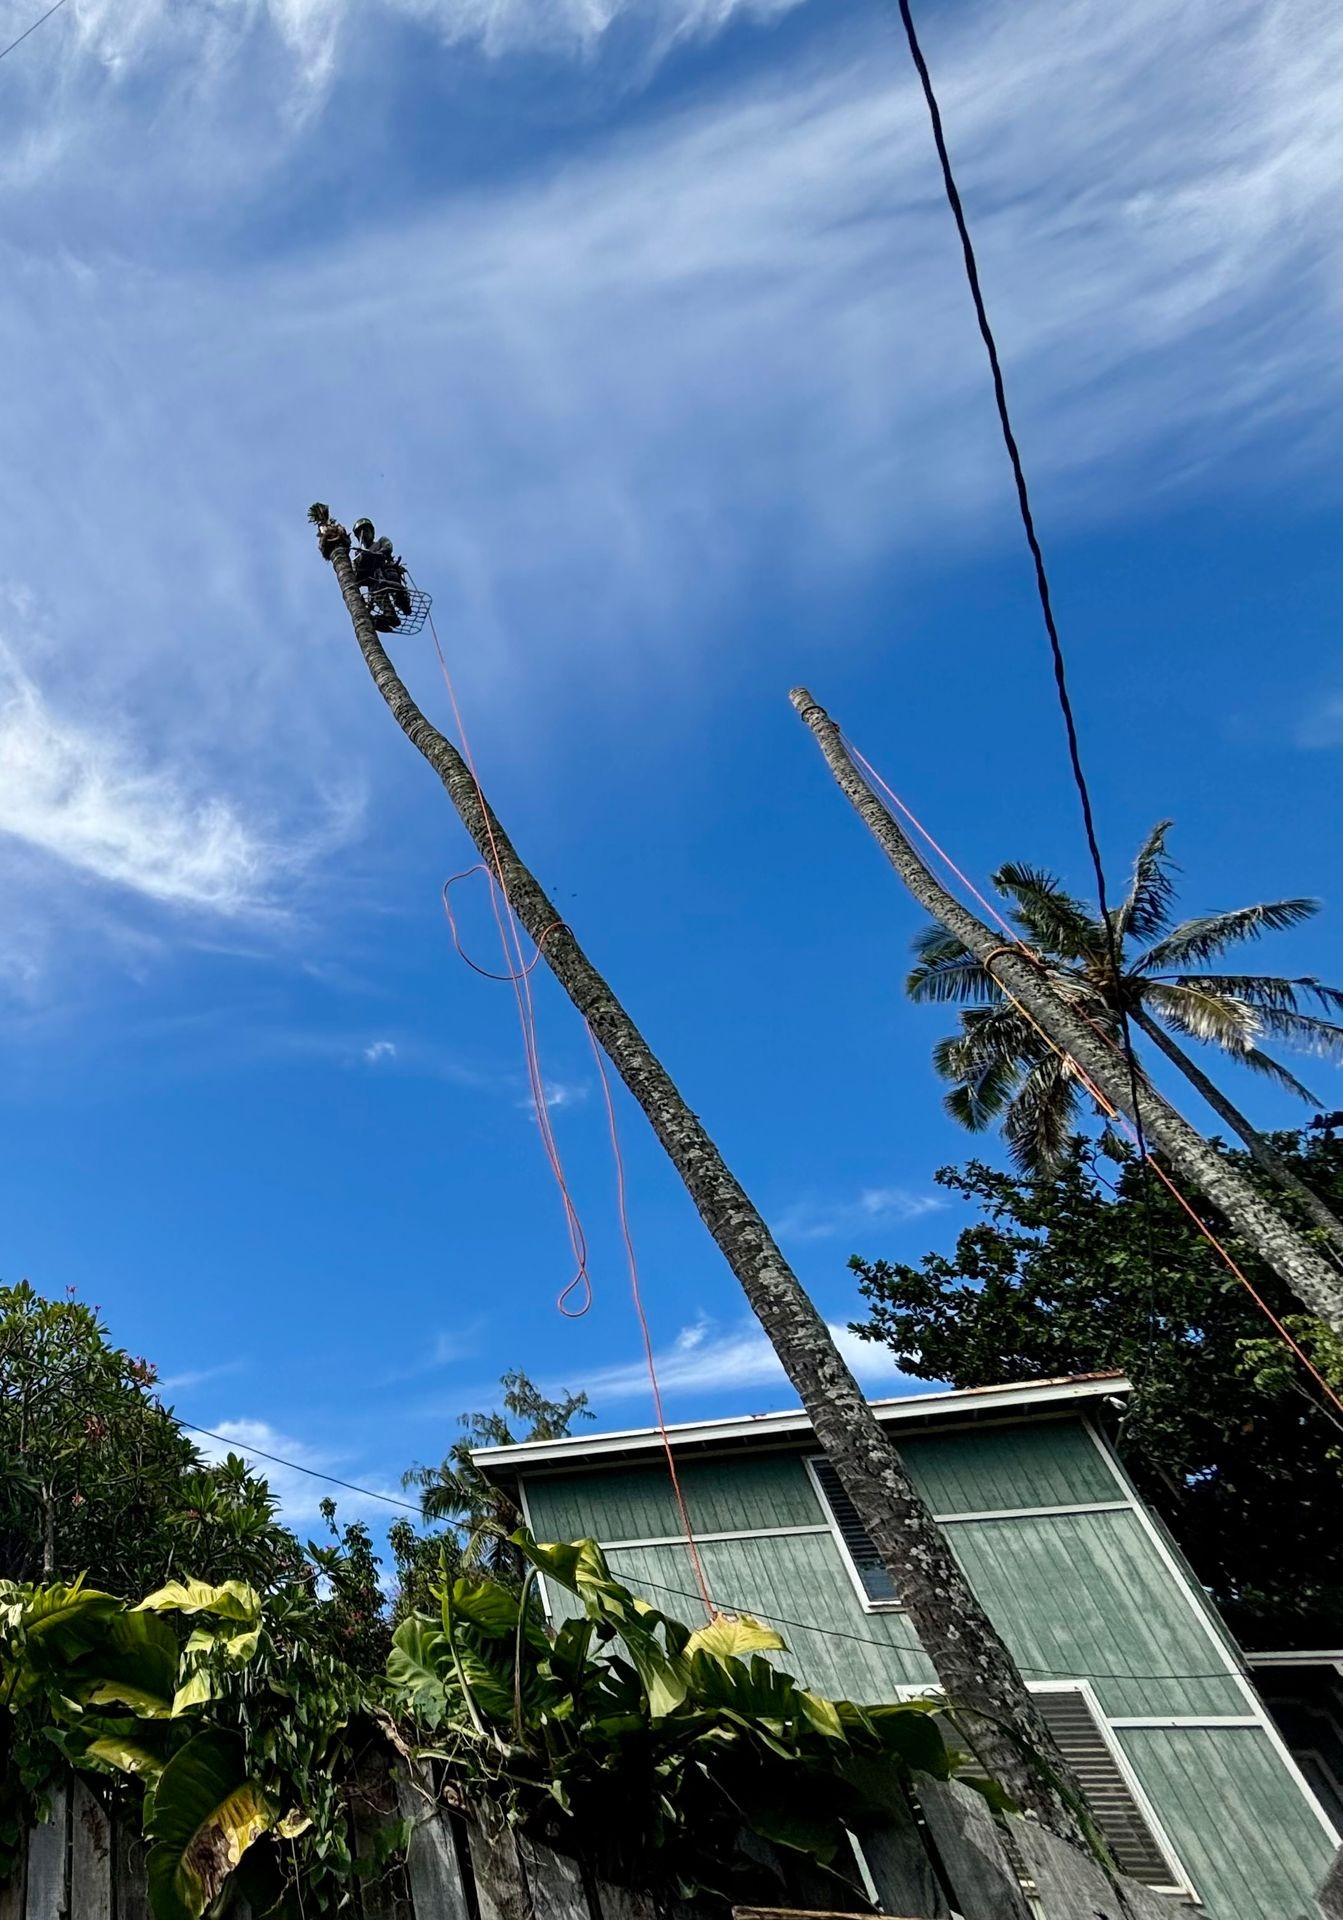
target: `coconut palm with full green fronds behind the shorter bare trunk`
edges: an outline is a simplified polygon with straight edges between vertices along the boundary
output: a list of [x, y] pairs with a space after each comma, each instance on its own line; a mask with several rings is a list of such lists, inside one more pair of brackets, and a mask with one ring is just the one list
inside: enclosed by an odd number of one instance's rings
[[[1128, 895], [1112, 908], [1118, 973], [1099, 914], [1064, 893], [1051, 874], [1009, 862], [997, 870], [993, 885], [1011, 900], [1009, 918], [1053, 991], [1112, 1039], [1118, 1039], [1124, 1010], [1130, 1027], [1180, 1068], [1258, 1165], [1297, 1198], [1312, 1225], [1343, 1254], [1343, 1223], [1176, 1039], [1220, 1046], [1241, 1066], [1318, 1106], [1310, 1089], [1260, 1043], [1278, 1041], [1318, 1058], [1343, 1060], [1343, 1025], [1306, 1010], [1314, 1004], [1341, 1012], [1343, 991], [1310, 975], [1210, 972], [1230, 947], [1310, 920], [1318, 900], [1264, 900], [1172, 924], [1170, 826], [1162, 820], [1147, 835]], [[953, 933], [934, 924], [915, 939], [915, 952], [916, 966], [905, 981], [909, 996], [963, 1008], [961, 1031], [940, 1041], [932, 1056], [943, 1079], [953, 1081], [947, 1112], [970, 1133], [1001, 1121], [1013, 1160], [1026, 1171], [1051, 1171], [1087, 1100], [1080, 1079]]]

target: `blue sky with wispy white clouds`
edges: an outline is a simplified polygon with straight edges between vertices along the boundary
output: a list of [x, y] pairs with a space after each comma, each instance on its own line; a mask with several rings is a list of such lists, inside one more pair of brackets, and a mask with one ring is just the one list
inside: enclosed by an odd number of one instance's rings
[[[1320, 895], [1274, 958], [1339, 979], [1343, 21], [924, 12], [1107, 860], [1174, 816], [1191, 910]], [[463, 835], [313, 497], [434, 593], [500, 812], [822, 1309], [849, 1252], [947, 1246], [918, 916], [786, 689], [966, 870], [1087, 870], [891, 10], [67, 0], [0, 111], [0, 1271], [377, 1488], [505, 1367], [647, 1417], [584, 1035], [542, 981], [569, 1323], [511, 1000], [438, 904]], [[784, 1404], [623, 1137], [672, 1415]]]

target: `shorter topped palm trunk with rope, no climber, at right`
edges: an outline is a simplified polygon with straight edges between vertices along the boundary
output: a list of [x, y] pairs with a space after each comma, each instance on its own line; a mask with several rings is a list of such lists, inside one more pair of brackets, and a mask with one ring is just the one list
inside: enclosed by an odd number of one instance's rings
[[842, 793], [918, 904], [976, 954], [999, 985], [1032, 1020], [1039, 1021], [1041, 1029], [1072, 1056], [1105, 1098], [1130, 1119], [1135, 1117], [1134, 1091], [1137, 1092], [1149, 1142], [1159, 1146], [1170, 1165], [1203, 1192], [1310, 1313], [1318, 1313], [1335, 1332], [1343, 1332], [1343, 1279], [1333, 1267], [1151, 1085], [1130, 1087], [1122, 1056], [1105, 1043], [1095, 1027], [1051, 993], [1026, 952], [1016, 943], [1005, 943], [1001, 933], [976, 920], [928, 872], [893, 816], [855, 768], [843, 735], [824, 707], [818, 707], [805, 687], [794, 687], [790, 699], [817, 735]]

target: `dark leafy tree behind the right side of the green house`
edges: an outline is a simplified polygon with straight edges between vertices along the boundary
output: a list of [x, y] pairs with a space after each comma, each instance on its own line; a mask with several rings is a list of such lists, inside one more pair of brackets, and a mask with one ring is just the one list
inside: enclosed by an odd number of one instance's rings
[[[1274, 1135], [1274, 1148], [1343, 1202], [1331, 1129]], [[1126, 1463], [1239, 1638], [1337, 1645], [1343, 1423], [1164, 1187], [1143, 1190], [1135, 1158], [1080, 1139], [1049, 1177], [970, 1162], [938, 1181], [982, 1217], [918, 1265], [855, 1258], [868, 1317], [853, 1331], [953, 1386], [1122, 1369], [1137, 1382]], [[1337, 1336], [1235, 1256], [1343, 1390]]]

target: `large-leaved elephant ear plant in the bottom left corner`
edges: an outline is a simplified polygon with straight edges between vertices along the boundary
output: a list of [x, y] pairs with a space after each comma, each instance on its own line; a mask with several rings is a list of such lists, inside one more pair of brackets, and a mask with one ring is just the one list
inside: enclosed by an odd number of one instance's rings
[[198, 1920], [234, 1870], [257, 1912], [290, 1905], [300, 1878], [307, 1912], [342, 1905], [363, 1688], [315, 1620], [304, 1586], [263, 1603], [242, 1580], [188, 1578], [138, 1605], [79, 1580], [0, 1586], [0, 1872], [75, 1766], [138, 1805], [154, 1920]]

